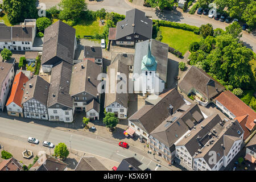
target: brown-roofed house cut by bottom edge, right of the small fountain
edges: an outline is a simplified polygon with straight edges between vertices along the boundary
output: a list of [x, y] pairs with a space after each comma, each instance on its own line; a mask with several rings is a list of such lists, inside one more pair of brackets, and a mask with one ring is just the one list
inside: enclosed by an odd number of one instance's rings
[[67, 171], [68, 164], [48, 154], [43, 154], [30, 168], [30, 171]]

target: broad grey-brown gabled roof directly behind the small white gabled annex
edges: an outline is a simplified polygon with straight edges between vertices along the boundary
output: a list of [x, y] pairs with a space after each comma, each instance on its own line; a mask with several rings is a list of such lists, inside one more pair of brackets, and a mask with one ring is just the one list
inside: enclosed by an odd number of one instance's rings
[[[87, 92], [97, 97], [97, 86], [101, 82], [101, 80], [97, 80], [97, 77], [100, 73], [101, 66], [92, 61], [85, 60], [73, 65], [69, 94], [75, 96], [76, 94]], [[90, 77], [90, 81], [88, 77]]]

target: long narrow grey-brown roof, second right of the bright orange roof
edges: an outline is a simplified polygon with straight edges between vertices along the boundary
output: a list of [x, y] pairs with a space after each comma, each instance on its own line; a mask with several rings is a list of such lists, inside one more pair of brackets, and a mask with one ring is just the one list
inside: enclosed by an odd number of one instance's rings
[[73, 108], [73, 98], [69, 95], [71, 74], [72, 65], [65, 61], [52, 68], [47, 107], [61, 104], [71, 109]]

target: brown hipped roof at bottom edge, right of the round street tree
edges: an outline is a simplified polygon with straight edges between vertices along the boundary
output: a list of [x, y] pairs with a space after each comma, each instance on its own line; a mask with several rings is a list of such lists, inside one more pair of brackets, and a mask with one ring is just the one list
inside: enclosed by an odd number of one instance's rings
[[75, 171], [108, 171], [108, 169], [95, 157], [82, 157]]

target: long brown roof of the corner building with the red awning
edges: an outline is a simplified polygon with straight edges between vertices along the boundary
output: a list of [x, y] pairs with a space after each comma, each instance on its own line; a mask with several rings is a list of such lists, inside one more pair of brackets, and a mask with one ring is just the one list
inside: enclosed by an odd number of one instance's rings
[[[147, 133], [151, 133], [156, 127], [160, 125], [166, 118], [170, 116], [169, 107], [172, 105], [173, 112], [175, 113], [182, 105], [185, 104], [185, 101], [180, 96], [177, 89], [171, 89], [165, 97], [162, 98], [156, 105], [152, 106], [151, 109], [145, 112], [145, 110], [140, 109], [134, 113], [129, 120], [138, 120], [146, 129]], [[143, 112], [143, 114], [140, 114]], [[139, 116], [139, 117], [138, 117]]]

